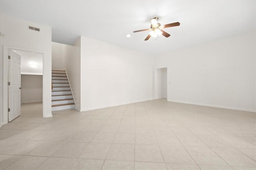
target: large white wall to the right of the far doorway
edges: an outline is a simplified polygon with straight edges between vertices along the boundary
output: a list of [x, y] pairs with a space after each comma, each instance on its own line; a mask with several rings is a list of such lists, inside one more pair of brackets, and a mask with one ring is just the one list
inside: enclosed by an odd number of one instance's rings
[[255, 111], [255, 31], [155, 58], [168, 67], [168, 101]]

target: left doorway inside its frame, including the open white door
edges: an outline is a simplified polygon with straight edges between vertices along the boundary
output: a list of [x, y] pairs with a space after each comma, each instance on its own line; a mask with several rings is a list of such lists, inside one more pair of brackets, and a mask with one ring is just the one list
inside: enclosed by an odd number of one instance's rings
[[22, 107], [34, 106], [28, 103], [36, 102], [42, 108], [43, 54], [10, 49], [8, 56], [8, 122], [21, 114], [38, 116], [42, 111]]

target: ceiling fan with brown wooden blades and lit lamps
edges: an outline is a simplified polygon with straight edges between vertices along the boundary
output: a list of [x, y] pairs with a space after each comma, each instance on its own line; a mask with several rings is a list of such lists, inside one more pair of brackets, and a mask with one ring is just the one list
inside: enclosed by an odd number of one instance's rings
[[161, 25], [160, 23], [157, 22], [158, 17], [154, 17], [152, 19], [150, 19], [151, 21], [151, 25], [150, 28], [148, 29], [141, 29], [141, 30], [137, 30], [137, 31], [133, 31], [134, 33], [136, 32], [140, 32], [140, 31], [148, 31], [151, 30], [148, 34], [148, 36], [146, 37], [146, 39], [144, 39], [145, 41], [147, 41], [150, 37], [158, 37], [159, 35], [164, 35], [164, 37], [170, 37], [170, 34], [168, 34], [167, 32], [165, 32], [164, 30], [162, 30], [163, 28], [168, 28], [168, 27], [175, 27], [175, 26], [179, 26], [180, 23], [179, 22], [174, 22], [174, 23], [168, 23], [165, 25]]

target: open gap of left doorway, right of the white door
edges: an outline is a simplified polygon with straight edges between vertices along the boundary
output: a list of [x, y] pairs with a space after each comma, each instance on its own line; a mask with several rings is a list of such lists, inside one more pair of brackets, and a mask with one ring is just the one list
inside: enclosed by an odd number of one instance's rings
[[22, 117], [41, 117], [43, 54], [20, 50], [14, 52], [21, 56], [21, 115]]

